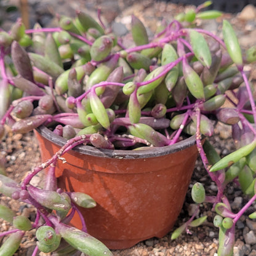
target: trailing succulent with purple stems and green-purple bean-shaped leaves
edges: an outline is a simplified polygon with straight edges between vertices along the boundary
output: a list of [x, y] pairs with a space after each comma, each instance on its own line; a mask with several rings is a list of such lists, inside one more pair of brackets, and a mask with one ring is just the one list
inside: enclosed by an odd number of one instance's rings
[[[0, 31], [0, 137], [4, 137], [5, 124], [19, 133], [44, 125], [67, 139], [65, 146], [20, 184], [0, 175], [0, 193], [38, 209], [30, 227], [37, 229], [38, 238], [33, 255], [38, 250], [73, 253], [76, 249], [88, 255], [111, 255], [87, 234], [77, 207], [94, 207], [94, 200], [84, 193], [57, 188], [55, 164], [57, 159], [65, 163], [65, 152], [81, 144], [145, 150], [145, 146], [173, 145], [194, 134], [204, 167], [218, 192], [206, 195], [201, 183], [194, 184], [192, 198], [198, 207], [190, 220], [174, 231], [172, 239], [182, 231], [189, 232], [188, 226], [201, 225], [206, 217], [194, 218], [200, 204], [209, 202], [217, 213], [214, 225], [220, 230], [218, 255], [233, 254], [234, 226], [256, 199], [256, 108], [250, 74], [244, 70], [245, 64], [256, 60], [255, 47], [243, 57], [226, 20], [223, 39], [193, 27], [196, 18], [221, 15], [202, 10], [209, 4], [207, 1], [180, 14], [169, 24], [163, 22], [153, 38], [148, 38], [143, 23], [132, 15], [133, 42], [129, 48], [125, 38], [106, 28], [100, 15], [98, 23], [80, 10], [74, 19], [60, 17], [58, 28], [35, 25], [25, 30], [18, 19], [9, 33]], [[232, 106], [224, 107], [225, 102]], [[205, 138], [214, 134], [217, 121], [232, 127], [237, 147], [224, 158]], [[35, 188], [31, 178], [46, 167], [45, 188]], [[224, 194], [226, 185], [234, 181], [251, 198], [236, 214]], [[81, 216], [82, 231], [66, 225], [74, 212]], [[27, 219], [12, 220], [8, 215], [15, 214], [0, 207], [0, 217], [15, 227], [0, 234], [10, 234], [0, 255], [12, 255], [30, 229]], [[249, 217], [255, 218], [255, 214]], [[64, 246], [60, 245], [61, 238], [66, 241]]]

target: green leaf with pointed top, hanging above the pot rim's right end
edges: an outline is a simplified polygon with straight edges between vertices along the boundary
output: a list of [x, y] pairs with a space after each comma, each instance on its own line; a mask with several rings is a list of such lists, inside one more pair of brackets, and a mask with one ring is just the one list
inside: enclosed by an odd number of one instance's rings
[[186, 58], [183, 58], [183, 76], [190, 93], [198, 99], [204, 99], [204, 86], [196, 71], [191, 68]]

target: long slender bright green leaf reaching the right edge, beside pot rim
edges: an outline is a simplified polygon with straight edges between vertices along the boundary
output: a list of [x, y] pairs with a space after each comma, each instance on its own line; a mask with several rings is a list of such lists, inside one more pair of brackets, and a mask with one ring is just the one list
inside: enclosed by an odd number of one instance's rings
[[242, 148], [239, 148], [238, 150], [228, 154], [224, 158], [220, 159], [220, 161], [218, 161], [216, 164], [214, 164], [214, 166], [212, 166], [210, 168], [210, 172], [215, 172], [216, 170], [221, 170], [225, 167], [230, 166], [234, 162], [238, 162], [241, 158], [250, 154], [250, 152], [252, 152], [252, 150], [254, 150], [255, 146], [256, 146], [256, 140], [254, 140], [250, 144], [248, 144], [246, 146], [242, 146]]

